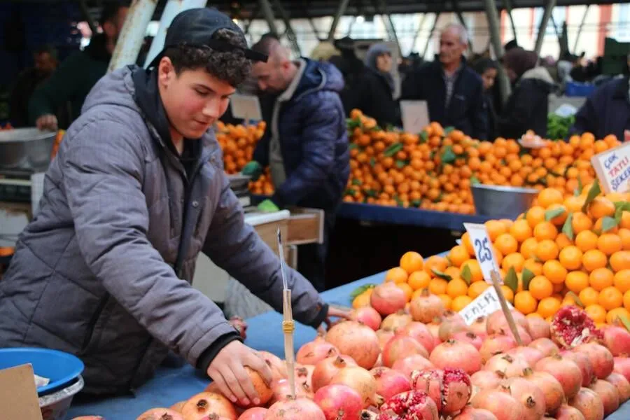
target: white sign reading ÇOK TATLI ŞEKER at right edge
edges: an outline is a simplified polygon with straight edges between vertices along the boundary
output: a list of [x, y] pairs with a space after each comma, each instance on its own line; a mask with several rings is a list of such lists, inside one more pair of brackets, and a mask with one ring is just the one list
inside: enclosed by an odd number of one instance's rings
[[591, 164], [605, 193], [630, 191], [630, 143], [594, 155]]

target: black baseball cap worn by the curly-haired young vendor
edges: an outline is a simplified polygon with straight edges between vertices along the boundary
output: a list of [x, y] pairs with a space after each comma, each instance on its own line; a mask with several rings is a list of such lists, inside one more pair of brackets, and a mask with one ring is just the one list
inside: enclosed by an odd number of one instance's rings
[[212, 36], [219, 29], [230, 29], [241, 34], [243, 39], [245, 39], [241, 28], [235, 22], [232, 22], [228, 15], [221, 13], [216, 8], [204, 7], [184, 10], [176, 15], [173, 22], [171, 22], [167, 29], [164, 48], [149, 64], [149, 67], [155, 67], [160, 63], [160, 59], [164, 57], [164, 52], [167, 48], [180, 44], [197, 48], [209, 47], [218, 51], [241, 50], [244, 52], [245, 57], [252, 61], [267, 62], [267, 55], [261, 52], [243, 48], [221, 39], [213, 39]]

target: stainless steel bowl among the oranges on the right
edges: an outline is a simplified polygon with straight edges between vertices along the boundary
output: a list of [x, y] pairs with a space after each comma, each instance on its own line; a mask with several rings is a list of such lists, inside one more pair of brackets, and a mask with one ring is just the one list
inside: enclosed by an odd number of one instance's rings
[[538, 190], [534, 188], [482, 184], [472, 186], [471, 190], [477, 214], [492, 218], [517, 218], [531, 207], [533, 199], [538, 195]]

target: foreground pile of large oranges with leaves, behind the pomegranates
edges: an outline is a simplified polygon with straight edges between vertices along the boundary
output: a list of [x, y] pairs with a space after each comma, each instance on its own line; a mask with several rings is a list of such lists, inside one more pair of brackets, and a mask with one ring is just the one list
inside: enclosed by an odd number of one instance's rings
[[[599, 324], [630, 318], [630, 194], [600, 193], [597, 181], [568, 197], [563, 188], [544, 188], [517, 220], [485, 226], [503, 294], [522, 314], [549, 319], [563, 305], [577, 304]], [[490, 286], [468, 233], [445, 257], [405, 253], [386, 281], [409, 299], [428, 288], [454, 311]]]

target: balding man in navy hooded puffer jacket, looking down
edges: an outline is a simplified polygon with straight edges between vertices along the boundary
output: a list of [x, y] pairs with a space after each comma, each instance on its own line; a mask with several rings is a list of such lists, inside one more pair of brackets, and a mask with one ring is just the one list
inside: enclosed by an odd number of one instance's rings
[[298, 247], [297, 269], [317, 290], [325, 290], [325, 260], [337, 207], [349, 177], [349, 145], [339, 92], [344, 86], [335, 66], [300, 58], [292, 61], [275, 39], [252, 47], [269, 55], [253, 64], [261, 90], [276, 92], [267, 133], [255, 148], [244, 174], [260, 174], [269, 165], [277, 207], [297, 205], [325, 211], [323, 244]]

